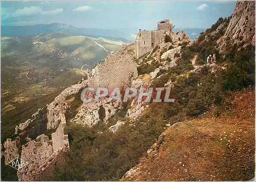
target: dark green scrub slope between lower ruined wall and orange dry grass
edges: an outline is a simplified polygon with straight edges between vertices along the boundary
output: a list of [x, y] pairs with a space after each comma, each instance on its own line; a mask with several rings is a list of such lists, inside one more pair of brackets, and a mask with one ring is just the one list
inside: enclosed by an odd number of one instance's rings
[[116, 133], [109, 131], [99, 133], [94, 128], [69, 124], [66, 128], [70, 139], [67, 166], [55, 171], [54, 180], [118, 180], [121, 178], [138, 162], [139, 157], [164, 129], [162, 113], [154, 107], [151, 106], [151, 110], [156, 114], [154, 118], [151, 118], [152, 113], [148, 111], [140, 121], [133, 125], [127, 122]]

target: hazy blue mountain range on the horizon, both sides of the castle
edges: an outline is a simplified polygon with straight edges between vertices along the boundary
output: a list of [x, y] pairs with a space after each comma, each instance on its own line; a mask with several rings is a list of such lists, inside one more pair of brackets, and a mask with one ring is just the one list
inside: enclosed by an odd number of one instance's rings
[[[179, 29], [176, 28], [174, 31], [185, 30], [185, 32], [195, 39], [203, 29], [199, 28], [186, 28]], [[28, 36], [28, 35], [37, 35], [39, 33], [46, 32], [63, 32], [72, 35], [85, 35], [90, 37], [104, 37], [107, 39], [118, 40], [123, 42], [134, 41], [134, 36], [137, 29], [98, 29], [98, 28], [77, 28], [68, 24], [60, 24], [54, 22], [52, 24], [38, 24], [38, 25], [28, 25], [28, 26], [2, 26], [1, 33], [2, 36]]]

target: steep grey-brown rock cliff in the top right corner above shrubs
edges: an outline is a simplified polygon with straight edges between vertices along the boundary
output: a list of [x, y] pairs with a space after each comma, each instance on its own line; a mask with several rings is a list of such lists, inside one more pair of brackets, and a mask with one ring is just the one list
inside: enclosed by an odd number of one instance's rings
[[[238, 1], [231, 15], [225, 35], [219, 41], [219, 50], [223, 52], [228, 45], [255, 44], [255, 2]], [[246, 42], [246, 43], [245, 43]], [[241, 46], [243, 46], [241, 45]]]

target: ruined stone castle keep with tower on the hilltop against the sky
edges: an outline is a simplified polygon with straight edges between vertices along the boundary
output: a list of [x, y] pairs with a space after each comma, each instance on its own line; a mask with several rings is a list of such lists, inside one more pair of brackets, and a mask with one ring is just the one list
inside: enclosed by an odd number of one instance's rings
[[158, 30], [139, 31], [135, 41], [135, 57], [138, 59], [140, 56], [152, 51], [163, 40], [163, 34], [166, 31], [173, 30], [173, 24], [170, 24], [168, 19], [160, 20], [157, 22]]

